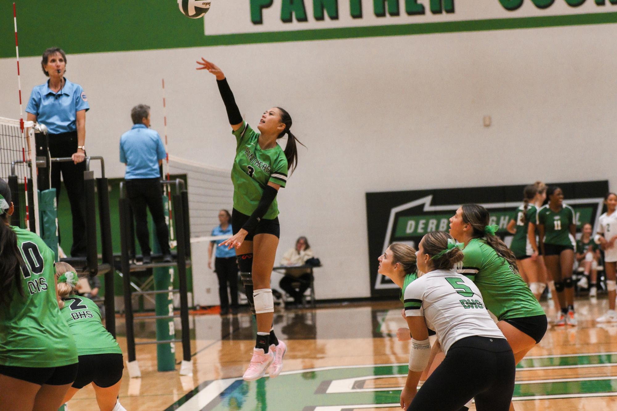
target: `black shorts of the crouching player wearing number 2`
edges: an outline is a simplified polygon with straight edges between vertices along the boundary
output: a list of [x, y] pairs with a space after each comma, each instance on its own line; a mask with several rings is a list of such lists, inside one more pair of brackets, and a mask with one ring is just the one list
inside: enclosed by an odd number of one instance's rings
[[73, 388], [81, 389], [89, 383], [101, 388], [115, 385], [122, 379], [122, 354], [92, 354], [79, 356], [79, 371]]

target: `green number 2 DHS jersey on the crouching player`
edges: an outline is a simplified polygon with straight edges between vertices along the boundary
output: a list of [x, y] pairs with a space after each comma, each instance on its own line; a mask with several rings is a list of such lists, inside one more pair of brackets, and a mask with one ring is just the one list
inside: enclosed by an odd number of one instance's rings
[[114, 337], [103, 327], [101, 311], [94, 301], [72, 295], [64, 299], [61, 312], [75, 338], [77, 354], [122, 354]]

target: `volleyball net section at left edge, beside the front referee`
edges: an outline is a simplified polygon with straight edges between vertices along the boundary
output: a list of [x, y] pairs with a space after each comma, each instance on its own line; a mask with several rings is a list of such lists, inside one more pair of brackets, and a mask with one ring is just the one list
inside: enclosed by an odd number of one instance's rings
[[31, 121], [22, 124], [20, 120], [0, 117], [0, 178], [9, 184], [15, 205], [11, 224], [26, 229], [30, 229], [28, 215], [36, 215], [38, 211], [38, 196], [32, 195], [36, 179], [32, 179], [28, 158], [27, 139], [31, 137], [34, 144], [34, 134], [31, 129], [27, 133], [27, 128], [32, 126]]

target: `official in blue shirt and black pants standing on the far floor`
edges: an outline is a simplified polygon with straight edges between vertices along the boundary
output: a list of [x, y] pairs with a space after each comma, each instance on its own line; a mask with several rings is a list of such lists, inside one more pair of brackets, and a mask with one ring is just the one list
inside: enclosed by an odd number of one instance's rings
[[[220, 224], [212, 229], [212, 237], [217, 235], [226, 235], [227, 238], [233, 235], [231, 228], [231, 214], [227, 210], [218, 211], [218, 222]], [[214, 271], [218, 277], [218, 298], [221, 301], [221, 315], [229, 314], [230, 301], [227, 297], [227, 283], [229, 283], [231, 292], [231, 314], [238, 314], [238, 263], [236, 263], [236, 249], [227, 247], [219, 247], [218, 245], [224, 242], [223, 240], [215, 240], [210, 242], [208, 248], [208, 268], [212, 269], [212, 250], [217, 248], [214, 260]]]

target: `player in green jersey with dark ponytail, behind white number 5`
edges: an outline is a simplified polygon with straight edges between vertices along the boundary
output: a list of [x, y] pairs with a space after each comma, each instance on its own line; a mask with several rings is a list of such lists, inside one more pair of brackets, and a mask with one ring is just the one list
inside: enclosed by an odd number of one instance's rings
[[478, 286], [518, 364], [542, 340], [547, 320], [540, 303], [517, 273], [514, 253], [495, 235], [499, 227], [490, 226], [489, 218], [486, 208], [465, 204], [450, 218], [450, 235], [465, 244], [460, 272]]

